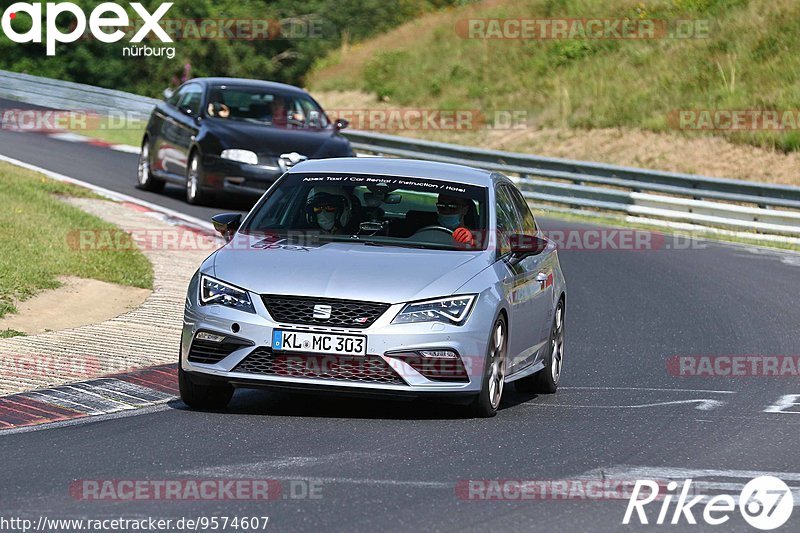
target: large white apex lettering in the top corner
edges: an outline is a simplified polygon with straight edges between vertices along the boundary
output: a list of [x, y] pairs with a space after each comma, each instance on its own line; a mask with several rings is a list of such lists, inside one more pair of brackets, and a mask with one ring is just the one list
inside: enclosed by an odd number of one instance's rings
[[[86, 31], [86, 14], [77, 4], [72, 2], [48, 2], [46, 4], [45, 27], [47, 29], [46, 43], [47, 55], [56, 55], [56, 43], [72, 43], [78, 40]], [[155, 13], [150, 13], [138, 2], [130, 4], [136, 13], [142, 17], [144, 24], [138, 32], [131, 38], [132, 43], [140, 43], [148, 33], [153, 32], [163, 43], [171, 43], [172, 39], [167, 32], [159, 26], [161, 18], [166, 15], [172, 7], [172, 2], [167, 2], [158, 6]], [[26, 13], [31, 17], [31, 28], [19, 33], [13, 27], [20, 13]], [[70, 31], [64, 33], [58, 26], [56, 20], [59, 15], [68, 14], [72, 16], [72, 24], [67, 24]], [[41, 43], [42, 42], [42, 4], [17, 2], [11, 4], [2, 15], [3, 33], [15, 43]], [[63, 21], [63, 17], [62, 17]], [[92, 36], [100, 42], [115, 43], [125, 36], [125, 32], [114, 28], [127, 27], [130, 25], [128, 13], [121, 5], [114, 2], [105, 2], [95, 7], [89, 15], [89, 31]]]

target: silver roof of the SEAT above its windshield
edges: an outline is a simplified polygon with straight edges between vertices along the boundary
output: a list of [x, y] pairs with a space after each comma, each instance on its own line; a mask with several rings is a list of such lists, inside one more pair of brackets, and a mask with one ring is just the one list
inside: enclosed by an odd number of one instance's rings
[[390, 157], [337, 157], [332, 159], [309, 159], [291, 168], [289, 172], [333, 172], [374, 174], [380, 176], [402, 176], [451, 181], [466, 185], [489, 187], [492, 173], [488, 170], [436, 163], [419, 159], [395, 159]]

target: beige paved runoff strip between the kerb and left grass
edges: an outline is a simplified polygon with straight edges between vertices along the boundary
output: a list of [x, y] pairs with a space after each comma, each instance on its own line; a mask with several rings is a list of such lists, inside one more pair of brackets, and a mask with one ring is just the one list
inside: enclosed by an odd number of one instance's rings
[[[153, 292], [139, 308], [99, 324], [0, 339], [0, 395], [176, 362], [186, 287], [218, 246], [210, 235], [171, 225], [163, 215], [133, 204], [65, 201], [134, 236], [153, 265]], [[76, 230], [75, 242], [115, 246], [119, 235], [81, 235]]]

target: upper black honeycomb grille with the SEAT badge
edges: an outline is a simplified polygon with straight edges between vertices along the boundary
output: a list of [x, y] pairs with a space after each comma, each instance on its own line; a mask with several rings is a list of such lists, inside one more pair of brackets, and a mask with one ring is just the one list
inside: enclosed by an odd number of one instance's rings
[[[366, 328], [389, 309], [389, 304], [358, 300], [272, 295], [264, 295], [261, 298], [273, 319], [288, 324]], [[323, 307], [320, 308], [320, 306]], [[322, 318], [324, 312], [328, 310], [324, 306], [330, 306], [329, 318]], [[316, 313], [315, 307], [317, 308]]]

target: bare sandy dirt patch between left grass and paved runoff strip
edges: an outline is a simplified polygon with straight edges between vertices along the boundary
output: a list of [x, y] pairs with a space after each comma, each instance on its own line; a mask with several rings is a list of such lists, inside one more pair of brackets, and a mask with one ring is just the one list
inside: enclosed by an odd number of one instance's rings
[[136, 309], [148, 289], [124, 287], [94, 279], [61, 277], [57, 289], [43, 291], [15, 305], [18, 312], [0, 319], [0, 330], [28, 335], [105, 322]]

